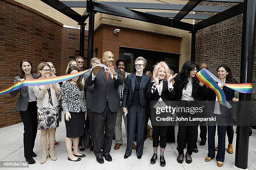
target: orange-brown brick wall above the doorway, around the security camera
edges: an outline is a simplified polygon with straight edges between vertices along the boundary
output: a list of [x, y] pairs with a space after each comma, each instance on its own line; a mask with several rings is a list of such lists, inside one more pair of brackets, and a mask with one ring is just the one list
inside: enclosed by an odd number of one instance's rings
[[[116, 28], [120, 29], [119, 34], [114, 33]], [[98, 57], [102, 57], [105, 51], [111, 51], [117, 60], [120, 46], [180, 54], [181, 40], [180, 37], [101, 25], [94, 35], [94, 48], [98, 47]]]

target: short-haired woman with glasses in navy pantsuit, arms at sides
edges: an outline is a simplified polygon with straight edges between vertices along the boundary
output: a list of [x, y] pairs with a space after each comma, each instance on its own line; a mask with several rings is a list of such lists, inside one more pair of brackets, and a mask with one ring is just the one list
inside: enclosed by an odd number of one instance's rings
[[[127, 114], [127, 147], [124, 158], [131, 156], [134, 134], [137, 129], [137, 158], [143, 154], [145, 126], [148, 113], [148, 97], [146, 96], [150, 77], [143, 73], [147, 60], [138, 57], [135, 60], [136, 72], [126, 77], [123, 92], [123, 112]], [[126, 109], [127, 107], [127, 109]]]

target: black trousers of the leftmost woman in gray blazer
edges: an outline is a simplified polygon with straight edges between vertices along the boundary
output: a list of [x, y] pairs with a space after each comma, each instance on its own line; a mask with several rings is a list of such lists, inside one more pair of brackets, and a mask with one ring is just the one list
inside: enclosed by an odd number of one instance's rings
[[25, 158], [32, 158], [37, 133], [37, 107], [36, 102], [28, 102], [26, 111], [20, 110], [20, 118], [24, 125], [23, 144]]

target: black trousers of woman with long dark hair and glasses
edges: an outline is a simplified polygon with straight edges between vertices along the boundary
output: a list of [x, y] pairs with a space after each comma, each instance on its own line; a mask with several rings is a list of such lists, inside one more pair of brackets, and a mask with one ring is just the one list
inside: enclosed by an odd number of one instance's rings
[[184, 153], [184, 146], [187, 143], [187, 153], [192, 155], [197, 138], [197, 126], [179, 125], [177, 144], [179, 154]]

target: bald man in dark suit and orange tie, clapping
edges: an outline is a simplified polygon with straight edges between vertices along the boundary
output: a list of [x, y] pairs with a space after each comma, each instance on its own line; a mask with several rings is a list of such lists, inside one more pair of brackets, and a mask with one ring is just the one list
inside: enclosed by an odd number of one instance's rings
[[[92, 117], [94, 128], [94, 154], [98, 163], [104, 163], [105, 160], [112, 161], [110, 150], [115, 130], [115, 119], [117, 111], [121, 109], [118, 94], [118, 85], [123, 84], [123, 77], [120, 70], [115, 69], [113, 64], [114, 55], [106, 51], [102, 55], [104, 67], [95, 67], [93, 72], [85, 80], [87, 86], [94, 85], [92, 94]], [[114, 78], [111, 79], [110, 72]], [[105, 134], [104, 134], [105, 128]], [[101, 150], [102, 140], [104, 138], [103, 150]]]

